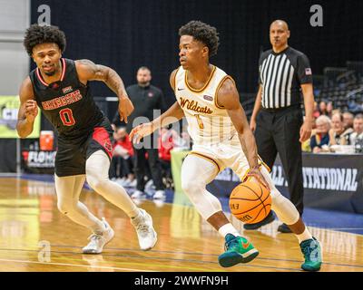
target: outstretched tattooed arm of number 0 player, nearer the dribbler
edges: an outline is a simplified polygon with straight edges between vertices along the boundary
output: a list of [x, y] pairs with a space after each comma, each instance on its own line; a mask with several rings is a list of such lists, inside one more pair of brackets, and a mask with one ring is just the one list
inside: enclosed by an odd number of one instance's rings
[[88, 81], [102, 81], [118, 96], [120, 120], [127, 122], [127, 117], [133, 111], [123, 80], [112, 68], [101, 64], [95, 64], [90, 60], [75, 61], [78, 78], [86, 84]]

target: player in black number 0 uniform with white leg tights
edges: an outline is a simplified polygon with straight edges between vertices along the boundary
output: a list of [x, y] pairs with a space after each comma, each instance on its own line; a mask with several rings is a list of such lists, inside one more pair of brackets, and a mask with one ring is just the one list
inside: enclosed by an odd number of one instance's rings
[[88, 86], [89, 81], [101, 81], [113, 90], [119, 98], [120, 117], [127, 122], [133, 106], [123, 80], [109, 67], [89, 60], [63, 58], [65, 36], [55, 26], [32, 25], [26, 30], [24, 44], [37, 67], [21, 85], [16, 129], [21, 138], [28, 136], [33, 131], [39, 106], [58, 131], [54, 176], [58, 208], [93, 232], [83, 253], [102, 253], [114, 235], [105, 219], [94, 217], [79, 200], [85, 179], [91, 188], [131, 218], [142, 250], [151, 249], [157, 240], [152, 217], [137, 208], [125, 189], [108, 177], [113, 129], [93, 101]]

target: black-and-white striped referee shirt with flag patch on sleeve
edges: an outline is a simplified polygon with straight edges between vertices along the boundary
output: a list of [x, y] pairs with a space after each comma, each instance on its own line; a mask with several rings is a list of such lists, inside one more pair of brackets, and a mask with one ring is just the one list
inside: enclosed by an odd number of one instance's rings
[[260, 56], [262, 108], [279, 109], [301, 103], [300, 84], [312, 83], [308, 57], [292, 47]]

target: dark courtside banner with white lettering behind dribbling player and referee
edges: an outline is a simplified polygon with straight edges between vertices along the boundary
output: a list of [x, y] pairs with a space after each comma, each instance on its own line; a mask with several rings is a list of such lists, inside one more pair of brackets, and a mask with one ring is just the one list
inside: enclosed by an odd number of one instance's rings
[[[289, 198], [288, 182], [278, 158], [271, 177], [277, 189]], [[363, 154], [302, 155], [304, 204], [363, 214]], [[229, 197], [240, 180], [231, 169], [222, 171], [207, 189], [216, 196]]]

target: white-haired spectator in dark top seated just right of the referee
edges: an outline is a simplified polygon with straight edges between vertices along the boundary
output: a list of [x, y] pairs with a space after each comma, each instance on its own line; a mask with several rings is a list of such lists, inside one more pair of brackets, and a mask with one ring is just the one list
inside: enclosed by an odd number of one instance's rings
[[316, 120], [317, 128], [310, 138], [310, 149], [313, 153], [325, 151], [325, 146], [329, 145], [330, 119], [328, 116], [321, 115]]

